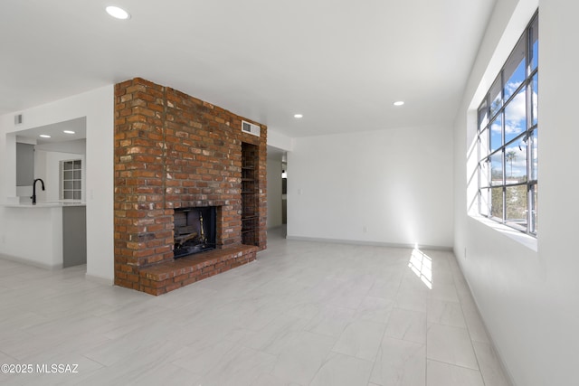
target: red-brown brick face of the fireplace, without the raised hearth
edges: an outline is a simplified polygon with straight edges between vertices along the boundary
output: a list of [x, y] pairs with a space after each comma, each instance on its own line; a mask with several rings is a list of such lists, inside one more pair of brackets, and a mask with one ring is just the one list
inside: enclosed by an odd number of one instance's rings
[[242, 142], [259, 146], [266, 248], [267, 127], [139, 78], [115, 86], [115, 284], [138, 289], [139, 268], [173, 259], [173, 210], [218, 206], [218, 248], [242, 244]]

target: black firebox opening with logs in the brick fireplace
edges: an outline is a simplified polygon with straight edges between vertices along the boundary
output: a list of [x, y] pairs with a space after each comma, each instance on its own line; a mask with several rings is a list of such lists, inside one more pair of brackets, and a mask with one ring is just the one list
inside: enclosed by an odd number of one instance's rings
[[175, 210], [175, 259], [215, 249], [216, 207], [179, 208]]

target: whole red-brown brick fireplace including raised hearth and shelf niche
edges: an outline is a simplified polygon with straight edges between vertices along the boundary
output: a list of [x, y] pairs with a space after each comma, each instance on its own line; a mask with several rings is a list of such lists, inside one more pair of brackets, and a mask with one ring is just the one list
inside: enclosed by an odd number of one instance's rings
[[[255, 259], [266, 248], [266, 146], [257, 122], [147, 80], [117, 84], [115, 284], [161, 295]], [[176, 211], [204, 207], [214, 249], [175, 259]]]

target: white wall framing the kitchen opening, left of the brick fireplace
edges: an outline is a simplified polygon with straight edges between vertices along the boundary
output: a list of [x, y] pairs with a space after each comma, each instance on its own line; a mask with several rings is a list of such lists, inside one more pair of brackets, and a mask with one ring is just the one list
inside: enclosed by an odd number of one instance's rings
[[[112, 281], [113, 249], [113, 151], [114, 86], [94, 89], [67, 99], [30, 108], [23, 113], [24, 123], [14, 127], [14, 114], [0, 117], [0, 200], [15, 194], [15, 136], [6, 133], [40, 127], [74, 118], [86, 117], [86, 192], [87, 192], [87, 275]], [[0, 207], [0, 253], [14, 250], [13, 240], [5, 237], [6, 227], [15, 223], [14, 209]], [[43, 245], [31, 245], [42, 253]]]

